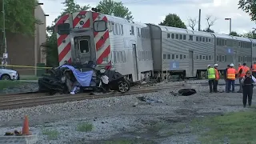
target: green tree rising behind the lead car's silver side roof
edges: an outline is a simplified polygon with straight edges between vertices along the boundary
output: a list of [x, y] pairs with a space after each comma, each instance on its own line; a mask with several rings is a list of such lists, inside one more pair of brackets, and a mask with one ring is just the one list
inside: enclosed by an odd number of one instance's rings
[[123, 6], [122, 2], [114, 2], [113, 0], [102, 0], [96, 6], [102, 14], [114, 15], [127, 20], [134, 19], [130, 10]]

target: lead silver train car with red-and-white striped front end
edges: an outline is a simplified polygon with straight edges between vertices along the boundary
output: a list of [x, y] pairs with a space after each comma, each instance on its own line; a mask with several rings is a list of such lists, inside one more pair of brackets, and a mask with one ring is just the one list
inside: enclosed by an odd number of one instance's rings
[[153, 70], [146, 24], [82, 10], [63, 15], [55, 26], [59, 65], [77, 59], [94, 61], [98, 67], [115, 69], [133, 82], [140, 81], [144, 74], [150, 75]]

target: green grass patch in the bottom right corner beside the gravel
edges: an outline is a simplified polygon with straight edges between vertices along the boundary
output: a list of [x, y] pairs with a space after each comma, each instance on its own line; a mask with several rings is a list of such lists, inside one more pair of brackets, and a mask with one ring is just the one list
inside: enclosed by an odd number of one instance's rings
[[209, 128], [201, 135], [202, 143], [256, 143], [255, 111], [230, 113], [222, 116], [196, 120], [192, 125]]

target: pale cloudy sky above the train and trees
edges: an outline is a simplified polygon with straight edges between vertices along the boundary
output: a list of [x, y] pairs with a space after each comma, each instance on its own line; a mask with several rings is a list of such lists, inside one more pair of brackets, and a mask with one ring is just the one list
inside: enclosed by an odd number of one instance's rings
[[[61, 2], [64, 0], [39, 0], [44, 5], [42, 9], [46, 17], [46, 24], [50, 26], [55, 18], [64, 9]], [[100, 0], [74, 0], [80, 6], [96, 6]], [[121, 2], [116, 0], [116, 2]], [[201, 9], [201, 29], [205, 29], [206, 16], [211, 15], [212, 19], [217, 18], [212, 30], [219, 34], [229, 34], [230, 22], [225, 18], [232, 19], [232, 31], [244, 34], [255, 26], [250, 21], [249, 14], [238, 10], [238, 0], [122, 0], [124, 6], [128, 7], [134, 16], [134, 21], [143, 23], [158, 24], [162, 22], [167, 14], [177, 14], [186, 26], [189, 18], [198, 18], [198, 11]], [[198, 28], [198, 26], [196, 26]]]

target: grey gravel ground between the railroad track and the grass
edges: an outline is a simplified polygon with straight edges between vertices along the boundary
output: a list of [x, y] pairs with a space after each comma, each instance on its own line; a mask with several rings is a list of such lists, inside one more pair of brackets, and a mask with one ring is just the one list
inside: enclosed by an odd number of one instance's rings
[[[195, 81], [196, 82], [196, 81]], [[202, 81], [206, 82], [206, 80]], [[176, 82], [177, 83], [177, 82]], [[184, 82], [185, 83], [185, 82]], [[66, 102], [0, 111], [0, 134], [21, 130], [22, 118], [28, 114], [30, 129], [38, 134], [40, 143], [200, 143], [194, 118], [233, 111], [254, 110], [242, 107], [242, 94], [209, 94], [208, 86], [193, 86], [186, 82], [182, 88], [194, 88], [197, 94], [174, 96], [170, 90], [116, 98]], [[219, 86], [219, 91], [224, 86]], [[236, 86], [238, 90], [238, 86]], [[256, 92], [256, 90], [254, 90]], [[144, 96], [162, 103], [142, 102]]]

